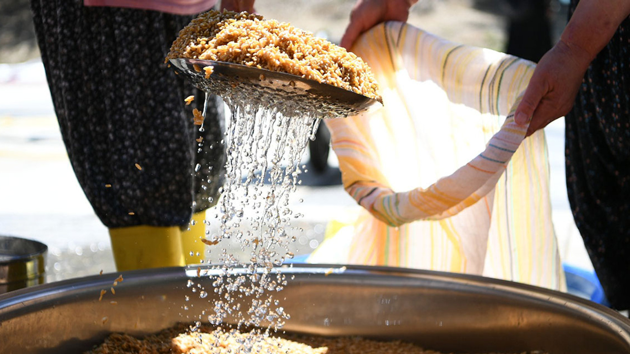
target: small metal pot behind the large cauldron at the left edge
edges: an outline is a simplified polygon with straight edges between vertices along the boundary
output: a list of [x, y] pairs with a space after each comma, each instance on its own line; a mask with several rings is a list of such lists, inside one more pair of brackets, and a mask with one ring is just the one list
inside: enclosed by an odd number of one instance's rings
[[43, 284], [47, 251], [38, 241], [0, 236], [0, 294]]

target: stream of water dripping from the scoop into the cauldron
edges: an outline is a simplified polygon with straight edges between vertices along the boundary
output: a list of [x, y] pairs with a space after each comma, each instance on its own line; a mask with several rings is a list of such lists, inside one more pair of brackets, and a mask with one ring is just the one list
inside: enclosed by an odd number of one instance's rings
[[[204, 117], [209, 94], [205, 99]], [[188, 287], [203, 298], [208, 291], [216, 294], [216, 300], [209, 300], [212, 309], [204, 310], [200, 320], [219, 325], [227, 317], [236, 318], [238, 328], [266, 328], [253, 336], [268, 335], [290, 318], [278, 295], [287, 279], [274, 267], [294, 256], [289, 246], [295, 237], [287, 231], [300, 215], [290, 210], [290, 198], [299, 185], [302, 155], [314, 139], [322, 113], [282, 100], [263, 106], [247, 97], [224, 99], [230, 111], [224, 139], [226, 178], [214, 221], [220, 223], [219, 234], [209, 239], [218, 243], [211, 246], [210, 254], [219, 276], [214, 277], [212, 289], [192, 282]], [[238, 260], [221, 248], [221, 241], [227, 239], [237, 241], [249, 259]], [[237, 274], [235, 268], [246, 271]], [[244, 351], [249, 352], [255, 341], [243, 343]]]

